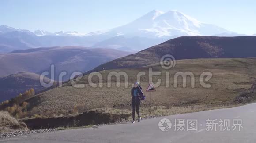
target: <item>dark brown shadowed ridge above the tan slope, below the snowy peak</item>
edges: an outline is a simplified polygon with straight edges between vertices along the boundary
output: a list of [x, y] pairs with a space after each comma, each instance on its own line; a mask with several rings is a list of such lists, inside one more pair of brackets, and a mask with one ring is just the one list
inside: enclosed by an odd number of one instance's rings
[[121, 57], [95, 68], [134, 68], [160, 62], [162, 56], [171, 54], [176, 60], [197, 58], [256, 57], [256, 36], [214, 37], [182, 36], [168, 40], [136, 54]]

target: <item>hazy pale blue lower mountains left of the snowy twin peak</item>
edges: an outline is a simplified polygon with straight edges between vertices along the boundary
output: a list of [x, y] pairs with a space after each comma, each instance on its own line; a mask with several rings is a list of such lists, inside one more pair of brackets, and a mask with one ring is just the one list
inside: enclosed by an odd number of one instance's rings
[[[87, 46], [100, 42], [109, 37], [105, 36], [57, 36], [43, 35], [43, 31], [30, 32], [29, 30], [8, 28], [10, 32], [0, 33], [0, 53], [8, 53], [13, 50], [25, 50], [50, 46]], [[7, 31], [7, 30], [5, 30]], [[49, 34], [49, 33], [48, 33]], [[39, 36], [40, 35], [40, 36]], [[59, 35], [61, 35], [59, 33]], [[64, 35], [62, 33], [62, 35]]]

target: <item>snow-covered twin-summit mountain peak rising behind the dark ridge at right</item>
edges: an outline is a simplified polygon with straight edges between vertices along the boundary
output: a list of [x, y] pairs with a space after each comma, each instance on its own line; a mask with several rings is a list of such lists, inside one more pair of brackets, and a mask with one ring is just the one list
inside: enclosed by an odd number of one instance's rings
[[110, 29], [104, 34], [116, 36], [140, 36], [159, 38], [163, 36], [215, 35], [229, 32], [217, 25], [206, 24], [180, 11], [162, 12], [153, 10], [126, 25]]

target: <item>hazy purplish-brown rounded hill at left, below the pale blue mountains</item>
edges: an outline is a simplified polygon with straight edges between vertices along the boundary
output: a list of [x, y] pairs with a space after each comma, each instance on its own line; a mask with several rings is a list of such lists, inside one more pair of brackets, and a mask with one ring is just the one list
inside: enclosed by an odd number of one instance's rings
[[[55, 65], [55, 74], [68, 72], [63, 80], [70, 79], [72, 72], [86, 72], [96, 66], [113, 59], [124, 57], [131, 52], [114, 49], [85, 47], [52, 47], [29, 50], [17, 50], [13, 53], [0, 54], [0, 76], [8, 76], [21, 71], [41, 74], [49, 71], [50, 65]], [[51, 77], [53, 79], [53, 77]]]

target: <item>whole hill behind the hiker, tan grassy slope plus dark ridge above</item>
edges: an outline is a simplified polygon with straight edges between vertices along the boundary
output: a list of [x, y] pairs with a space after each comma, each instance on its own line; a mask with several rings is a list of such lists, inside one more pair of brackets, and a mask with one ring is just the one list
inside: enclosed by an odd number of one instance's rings
[[[160, 64], [161, 58], [166, 54], [176, 58], [176, 64], [171, 69], [164, 69]], [[84, 88], [76, 88], [68, 81], [62, 87], [41, 92], [26, 102], [30, 105], [28, 111], [36, 108], [47, 113], [49, 109], [72, 111], [76, 105], [80, 105], [85, 111], [95, 108], [130, 109], [132, 83], [138, 80], [136, 78], [140, 72], [144, 72], [145, 75], [140, 76], [139, 82], [145, 91], [149, 77], [152, 77], [149, 68], [152, 68], [154, 72], [162, 73], [152, 78], [155, 85], [161, 81], [156, 87], [157, 92], [152, 96], [154, 105], [220, 105], [233, 102], [241, 93], [250, 91], [256, 77], [255, 57], [256, 36], [182, 36], [98, 66], [93, 71], [100, 72], [102, 80], [98, 76], [91, 79], [97, 88], [89, 84], [89, 73], [93, 72], [89, 71], [77, 82], [85, 85]], [[109, 79], [113, 71], [124, 72], [128, 78], [120, 76], [120, 86], [117, 86], [117, 77]], [[191, 72], [195, 76], [195, 88], [192, 87], [192, 77], [190, 79], [189, 75], [186, 87], [183, 86], [182, 77], [173, 79], [178, 72]], [[205, 81], [211, 88], [200, 83], [203, 72], [213, 74], [211, 79]], [[102, 87], [98, 84], [100, 82], [103, 82]], [[108, 86], [109, 82], [111, 86]], [[125, 86], [127, 82], [128, 87]], [[175, 82], [177, 87], [173, 86]], [[143, 106], [149, 106], [149, 93], [145, 92], [145, 95], [147, 98], [143, 101]], [[58, 114], [55, 113], [56, 110], [51, 110], [51, 113]]]

